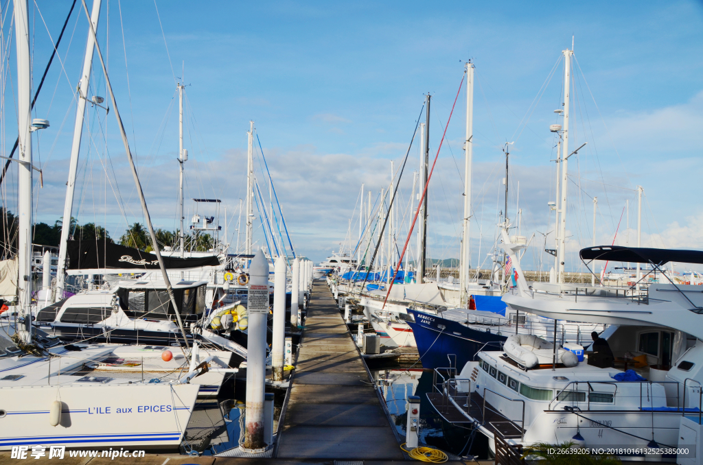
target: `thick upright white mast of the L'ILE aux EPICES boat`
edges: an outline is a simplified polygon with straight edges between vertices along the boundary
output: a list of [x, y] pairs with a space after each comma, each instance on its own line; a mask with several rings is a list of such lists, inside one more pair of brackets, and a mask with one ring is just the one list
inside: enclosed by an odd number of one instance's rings
[[32, 96], [30, 81], [30, 27], [27, 0], [15, 0], [15, 40], [17, 41], [17, 110], [19, 135], [18, 179], [18, 263], [19, 304], [23, 327], [18, 327], [20, 339], [32, 341]]

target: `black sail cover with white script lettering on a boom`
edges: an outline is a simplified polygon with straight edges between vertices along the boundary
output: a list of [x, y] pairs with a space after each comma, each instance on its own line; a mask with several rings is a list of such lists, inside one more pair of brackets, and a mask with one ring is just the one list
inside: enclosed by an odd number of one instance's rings
[[[72, 240], [67, 242], [69, 270], [96, 268], [134, 268], [135, 270], [158, 270], [156, 254], [112, 244], [105, 240]], [[219, 266], [217, 256], [198, 258], [176, 258], [162, 256], [164, 266], [169, 269]]]

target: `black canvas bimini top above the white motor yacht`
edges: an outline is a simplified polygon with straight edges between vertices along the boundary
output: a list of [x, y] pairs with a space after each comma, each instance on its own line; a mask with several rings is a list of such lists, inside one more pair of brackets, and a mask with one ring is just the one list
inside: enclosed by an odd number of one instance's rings
[[675, 249], [647, 249], [645, 247], [620, 247], [601, 245], [587, 247], [579, 252], [581, 260], [610, 260], [633, 263], [654, 263], [662, 266], [669, 261], [677, 263], [703, 263], [703, 251]]

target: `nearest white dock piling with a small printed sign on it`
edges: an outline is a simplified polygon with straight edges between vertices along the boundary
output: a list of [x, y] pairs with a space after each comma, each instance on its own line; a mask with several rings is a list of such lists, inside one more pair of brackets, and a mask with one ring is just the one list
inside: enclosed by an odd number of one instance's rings
[[243, 450], [260, 452], [264, 443], [264, 381], [266, 378], [266, 318], [269, 314], [269, 263], [261, 249], [252, 258], [247, 295], [246, 431]]

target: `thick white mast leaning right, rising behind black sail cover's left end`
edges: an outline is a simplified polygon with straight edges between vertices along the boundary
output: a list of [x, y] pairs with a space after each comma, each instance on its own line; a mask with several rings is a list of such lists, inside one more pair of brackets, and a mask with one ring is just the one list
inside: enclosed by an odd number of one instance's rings
[[[100, 7], [102, 0], [93, 0], [93, 11], [91, 22], [93, 29], [98, 30], [98, 19], [100, 18]], [[21, 1], [20, 1], [21, 3]], [[86, 40], [86, 53], [83, 58], [83, 70], [78, 83], [78, 99], [76, 101], [76, 121], [73, 126], [73, 142], [71, 145], [71, 159], [68, 166], [68, 182], [66, 183], [66, 198], [63, 203], [63, 219], [61, 223], [61, 240], [58, 248], [58, 267], [56, 270], [56, 301], [63, 299], [64, 270], [66, 268], [66, 253], [68, 235], [71, 229], [71, 215], [73, 209], [73, 194], [76, 185], [76, 172], [78, 171], [78, 155], [81, 148], [81, 136], [83, 132], [83, 121], [88, 98], [88, 84], [90, 83], [90, 72], [93, 66], [93, 48], [95, 39], [90, 30]]]

